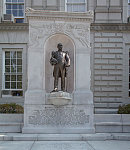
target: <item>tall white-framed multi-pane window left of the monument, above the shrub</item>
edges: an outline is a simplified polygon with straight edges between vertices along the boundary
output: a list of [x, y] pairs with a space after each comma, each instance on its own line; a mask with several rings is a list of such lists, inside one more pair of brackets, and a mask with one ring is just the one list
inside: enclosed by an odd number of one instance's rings
[[22, 51], [5, 50], [3, 61], [3, 93], [11, 91], [12, 96], [22, 96]]

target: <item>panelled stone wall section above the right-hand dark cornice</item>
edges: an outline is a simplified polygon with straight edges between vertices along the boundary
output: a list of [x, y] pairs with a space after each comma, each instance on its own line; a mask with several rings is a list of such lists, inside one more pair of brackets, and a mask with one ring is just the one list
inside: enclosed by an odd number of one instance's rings
[[126, 0], [96, 0], [95, 22], [96, 23], [122, 23], [124, 20], [123, 9]]

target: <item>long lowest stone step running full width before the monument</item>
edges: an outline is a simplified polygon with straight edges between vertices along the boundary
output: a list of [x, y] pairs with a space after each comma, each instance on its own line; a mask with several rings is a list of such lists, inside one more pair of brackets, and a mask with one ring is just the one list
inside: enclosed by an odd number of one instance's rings
[[96, 134], [22, 134], [1, 133], [0, 141], [105, 141], [130, 140], [129, 133], [96, 133]]

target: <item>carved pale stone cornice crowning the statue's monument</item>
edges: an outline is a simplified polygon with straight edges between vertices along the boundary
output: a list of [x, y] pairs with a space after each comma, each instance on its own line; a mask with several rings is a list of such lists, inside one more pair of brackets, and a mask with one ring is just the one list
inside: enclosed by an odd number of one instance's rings
[[35, 20], [52, 20], [52, 21], [80, 21], [87, 22], [93, 20], [93, 11], [88, 11], [84, 13], [70, 13], [62, 11], [46, 11], [46, 10], [34, 10], [32, 8], [26, 9], [26, 17]]

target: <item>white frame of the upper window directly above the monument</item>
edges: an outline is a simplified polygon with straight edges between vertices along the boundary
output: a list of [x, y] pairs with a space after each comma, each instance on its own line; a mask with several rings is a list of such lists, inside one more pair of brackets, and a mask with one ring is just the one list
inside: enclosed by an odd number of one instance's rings
[[[72, 2], [72, 3], [68, 3], [67, 0], [65, 0], [65, 11], [66, 12], [86, 12], [87, 11], [87, 0], [84, 0], [85, 2]], [[85, 11], [67, 11], [67, 5], [68, 4], [74, 4], [74, 5], [78, 5], [78, 4], [85, 4]]]

